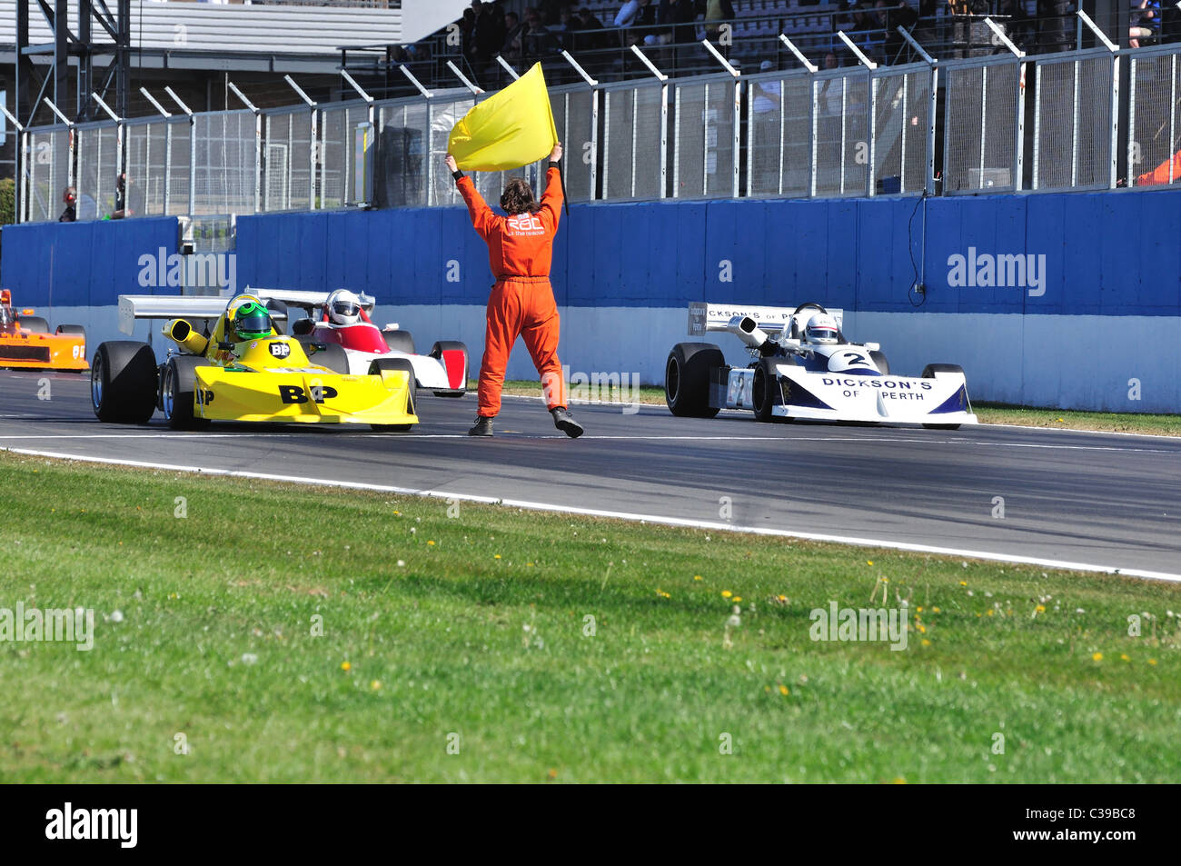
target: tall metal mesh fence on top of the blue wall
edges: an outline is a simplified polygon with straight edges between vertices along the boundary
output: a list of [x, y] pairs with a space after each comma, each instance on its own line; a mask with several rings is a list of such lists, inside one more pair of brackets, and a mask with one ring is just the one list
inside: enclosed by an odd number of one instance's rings
[[[1149, 187], [1181, 181], [1179, 54], [1168, 45], [1009, 52], [673, 80], [653, 69], [552, 87], [550, 104], [578, 202], [1108, 189], [1121, 176]], [[448, 136], [485, 98], [457, 89], [26, 129], [19, 219], [58, 219], [70, 185], [78, 219], [120, 215], [120, 168], [125, 215], [459, 204], [443, 165]], [[537, 189], [544, 162], [474, 181], [496, 202], [510, 175]]]

